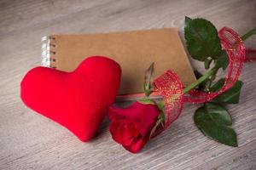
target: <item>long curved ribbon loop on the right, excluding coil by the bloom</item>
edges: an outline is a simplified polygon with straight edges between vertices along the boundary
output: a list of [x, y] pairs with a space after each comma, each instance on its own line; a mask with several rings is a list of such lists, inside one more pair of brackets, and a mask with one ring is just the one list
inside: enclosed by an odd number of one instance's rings
[[218, 31], [222, 48], [226, 50], [229, 57], [228, 72], [225, 77], [224, 86], [218, 92], [202, 92], [199, 90], [192, 90], [189, 94], [184, 95], [184, 102], [204, 103], [207, 102], [218, 94], [231, 88], [237, 81], [241, 73], [241, 68], [246, 57], [246, 48], [241, 41], [241, 37], [230, 28], [224, 27]]

